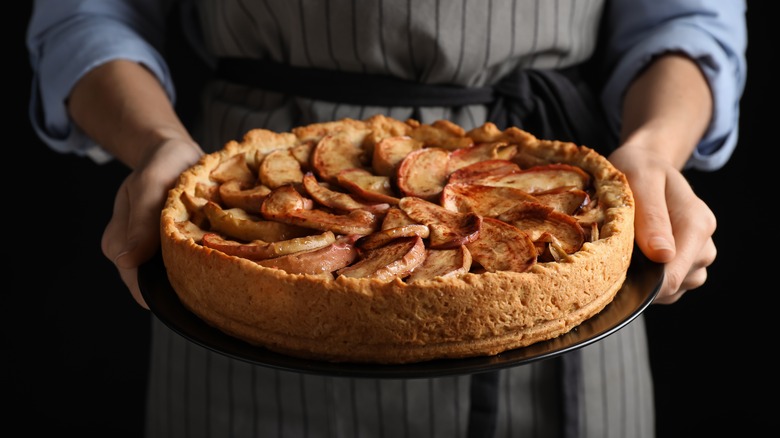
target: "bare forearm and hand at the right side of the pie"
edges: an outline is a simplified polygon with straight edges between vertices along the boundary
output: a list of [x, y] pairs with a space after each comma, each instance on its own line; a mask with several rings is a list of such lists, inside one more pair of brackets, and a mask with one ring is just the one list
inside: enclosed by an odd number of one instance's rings
[[656, 303], [674, 303], [703, 285], [717, 254], [715, 215], [680, 172], [711, 118], [706, 78], [683, 54], [656, 58], [623, 100], [622, 144], [609, 159], [634, 192], [639, 249], [665, 264]]

